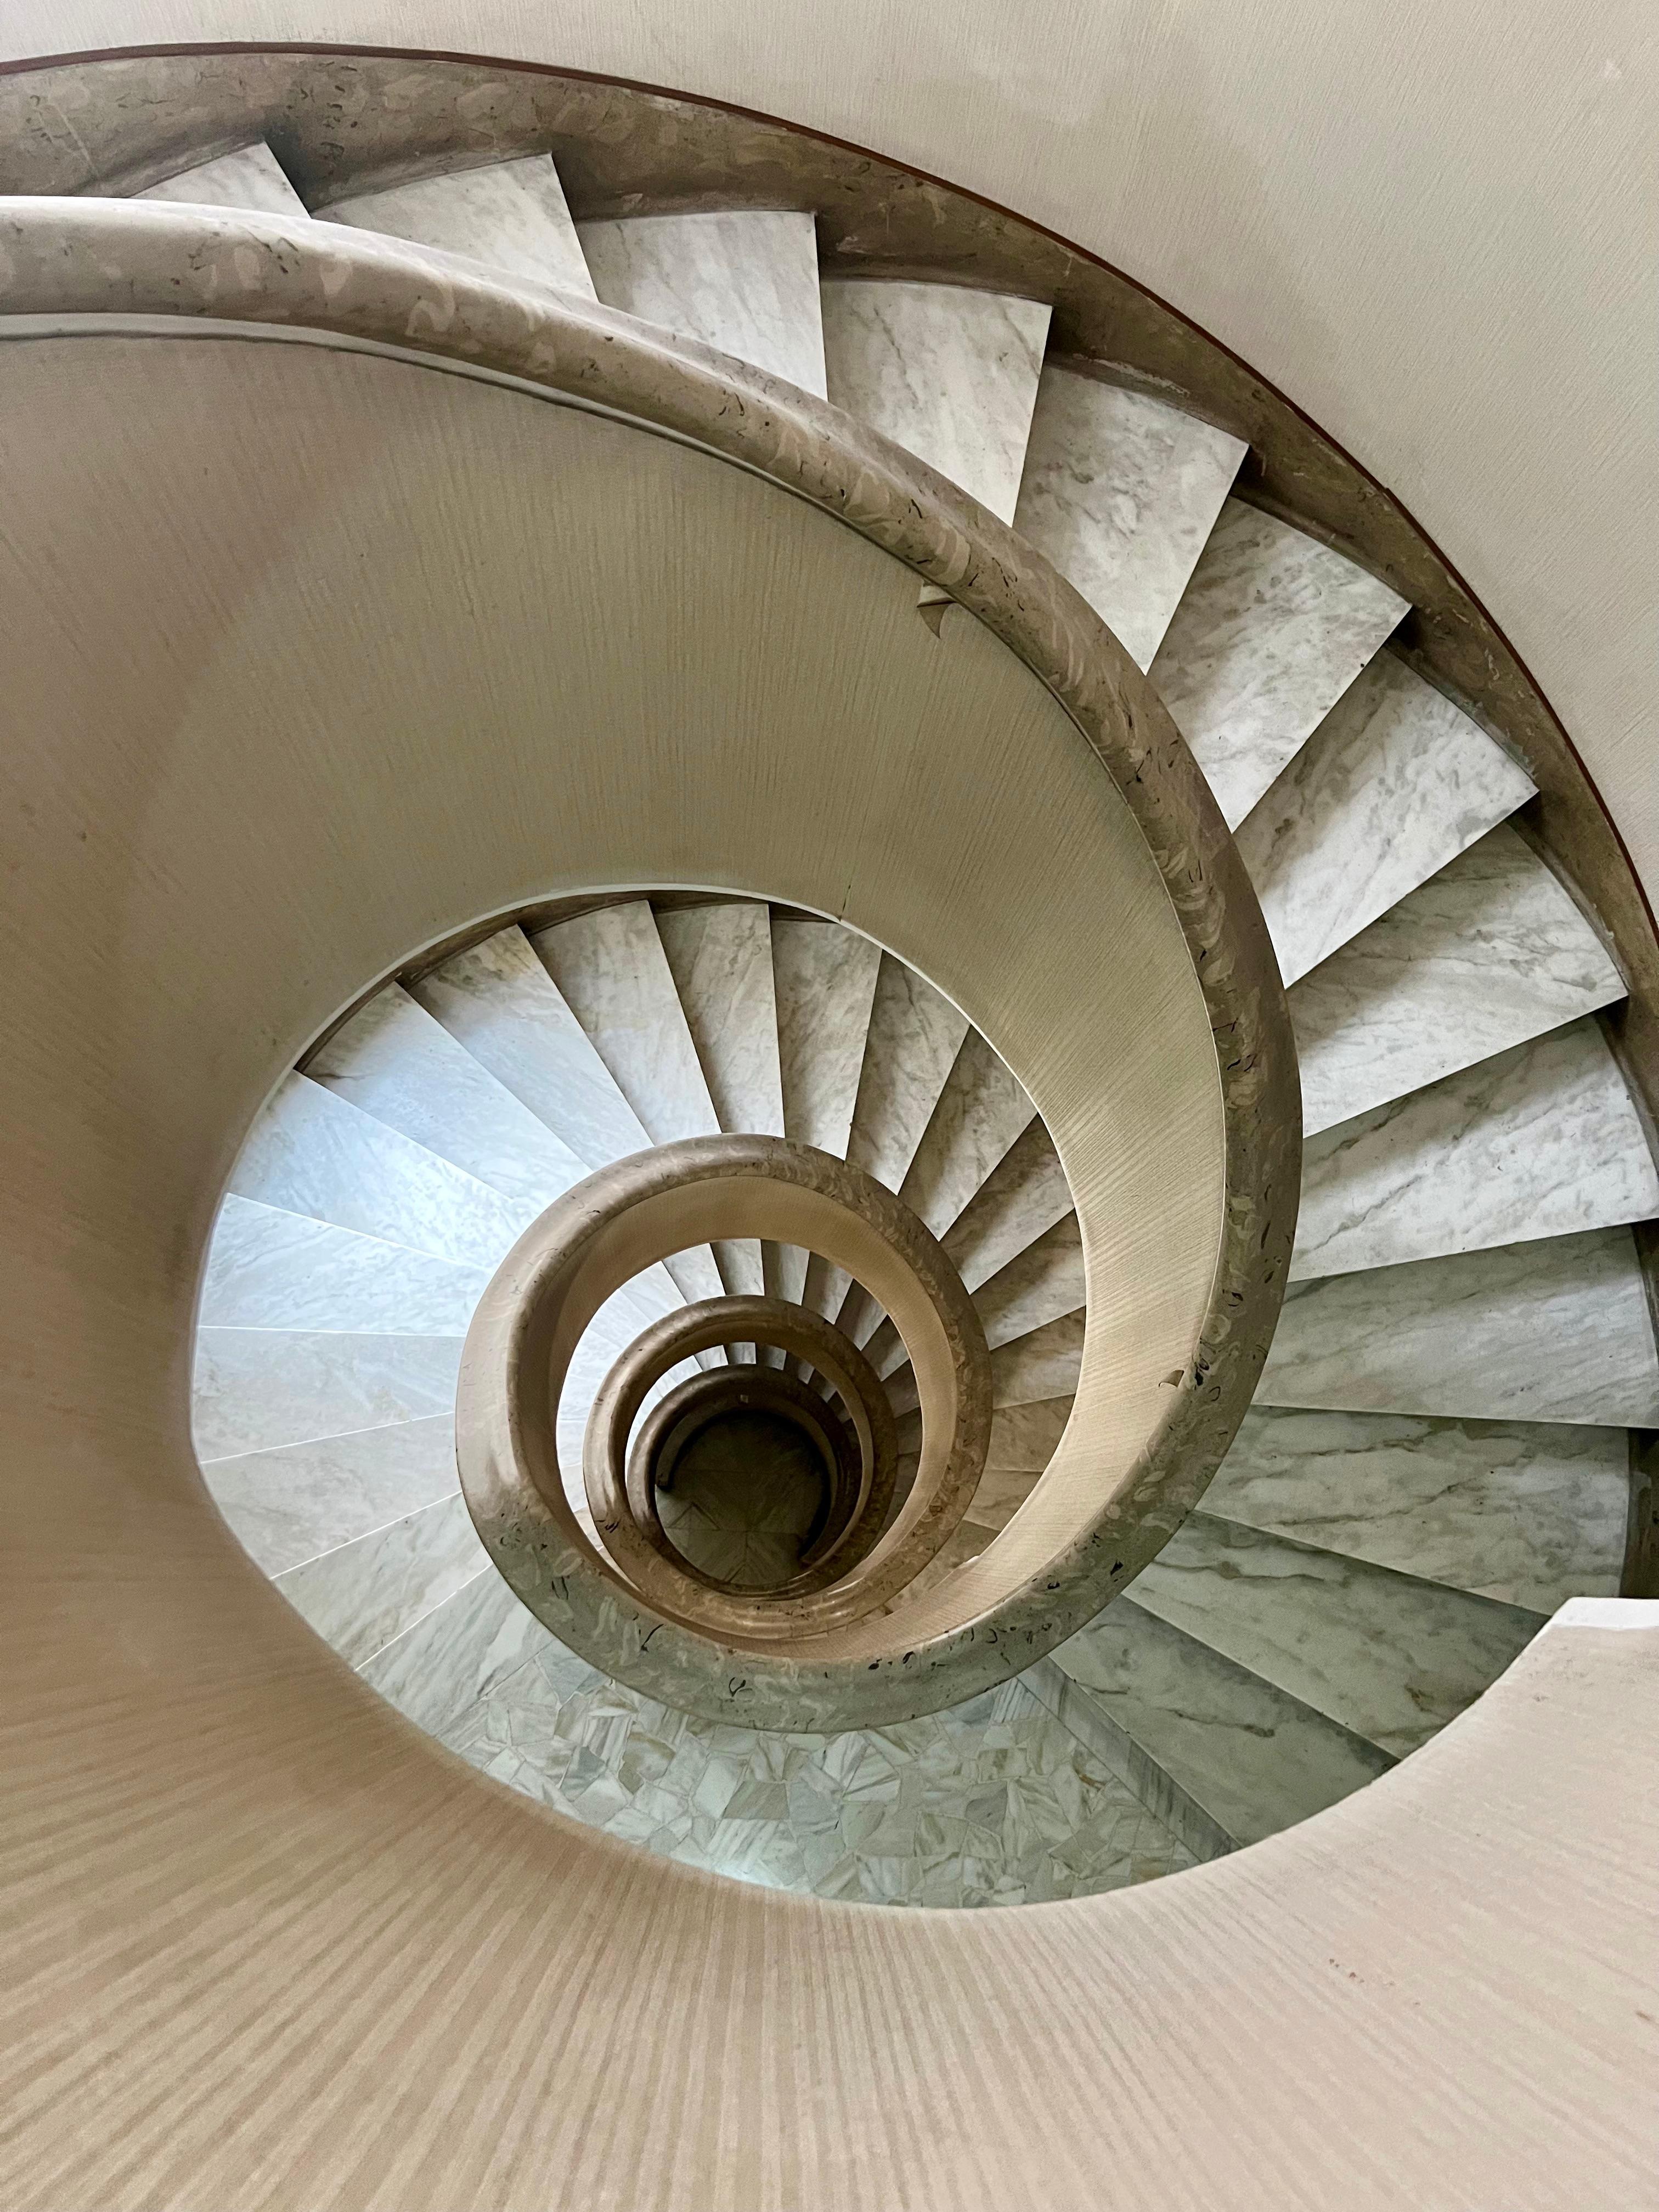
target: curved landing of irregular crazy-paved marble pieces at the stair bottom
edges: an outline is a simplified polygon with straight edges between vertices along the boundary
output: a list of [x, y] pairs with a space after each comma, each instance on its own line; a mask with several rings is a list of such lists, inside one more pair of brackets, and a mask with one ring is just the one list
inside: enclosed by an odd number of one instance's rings
[[896, 1728], [712, 1728], [549, 1639], [447, 1730], [484, 1774], [681, 1865], [869, 1905], [1035, 1905], [1192, 1854], [1024, 1681]]

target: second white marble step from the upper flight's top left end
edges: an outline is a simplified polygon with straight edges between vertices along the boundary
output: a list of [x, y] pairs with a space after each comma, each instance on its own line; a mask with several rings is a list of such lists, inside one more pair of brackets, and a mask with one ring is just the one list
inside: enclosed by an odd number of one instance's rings
[[553, 157], [491, 161], [449, 177], [418, 177], [383, 192], [356, 192], [319, 208], [321, 223], [380, 230], [389, 239], [436, 246], [489, 268], [593, 299], [593, 276], [564, 204]]

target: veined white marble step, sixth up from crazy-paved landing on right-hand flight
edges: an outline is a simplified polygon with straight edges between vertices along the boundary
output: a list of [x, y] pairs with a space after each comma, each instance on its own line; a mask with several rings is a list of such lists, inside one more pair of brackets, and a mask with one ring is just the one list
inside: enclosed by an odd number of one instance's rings
[[1590, 922], [1500, 823], [1292, 987], [1303, 1133], [1619, 998]]

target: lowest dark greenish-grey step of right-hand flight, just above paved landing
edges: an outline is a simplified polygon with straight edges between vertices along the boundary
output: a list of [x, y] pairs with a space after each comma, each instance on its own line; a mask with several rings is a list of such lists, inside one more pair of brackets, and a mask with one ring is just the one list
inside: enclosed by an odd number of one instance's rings
[[[1307, 1820], [1394, 1765], [1376, 1743], [1146, 1613], [1133, 1595], [1062, 1644], [1053, 1666], [1232, 1845]], [[1062, 1719], [1082, 1721], [1073, 1703]]]

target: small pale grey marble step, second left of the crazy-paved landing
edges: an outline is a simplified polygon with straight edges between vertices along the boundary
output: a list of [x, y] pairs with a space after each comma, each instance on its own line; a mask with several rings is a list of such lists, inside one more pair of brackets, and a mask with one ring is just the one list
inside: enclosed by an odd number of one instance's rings
[[361, 1666], [489, 1568], [456, 1493], [276, 1577], [276, 1588], [341, 1659]]

